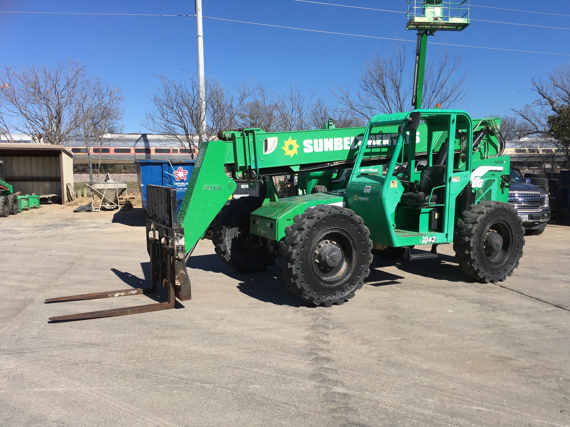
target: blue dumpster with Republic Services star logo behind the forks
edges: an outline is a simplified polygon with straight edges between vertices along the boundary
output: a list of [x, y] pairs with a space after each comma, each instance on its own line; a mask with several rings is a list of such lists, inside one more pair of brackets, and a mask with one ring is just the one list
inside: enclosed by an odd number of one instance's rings
[[137, 160], [143, 207], [146, 209], [146, 186], [151, 184], [176, 188], [176, 201], [180, 209], [193, 169], [193, 160]]

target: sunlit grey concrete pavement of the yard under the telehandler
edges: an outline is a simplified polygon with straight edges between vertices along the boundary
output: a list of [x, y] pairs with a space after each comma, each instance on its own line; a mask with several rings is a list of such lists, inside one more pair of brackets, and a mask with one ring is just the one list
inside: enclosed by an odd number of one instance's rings
[[192, 301], [53, 324], [149, 301], [43, 303], [144, 285], [141, 210], [42, 206], [0, 236], [0, 426], [570, 426], [568, 227], [527, 236], [510, 289], [468, 280], [445, 245], [439, 263], [375, 260], [330, 308], [203, 241]]

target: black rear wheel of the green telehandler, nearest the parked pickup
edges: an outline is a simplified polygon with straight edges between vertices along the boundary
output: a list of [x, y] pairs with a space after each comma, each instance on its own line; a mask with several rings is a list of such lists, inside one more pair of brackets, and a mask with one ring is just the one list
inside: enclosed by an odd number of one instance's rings
[[523, 256], [524, 228], [507, 203], [472, 204], [457, 221], [453, 249], [465, 273], [482, 282], [502, 282]]

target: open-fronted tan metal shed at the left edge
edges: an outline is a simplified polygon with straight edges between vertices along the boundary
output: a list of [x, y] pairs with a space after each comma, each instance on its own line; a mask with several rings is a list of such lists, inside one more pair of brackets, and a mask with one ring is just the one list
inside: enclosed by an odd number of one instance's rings
[[[5, 180], [22, 194], [56, 194], [68, 201], [66, 185], [73, 185], [73, 153], [63, 145], [0, 143]], [[62, 197], [63, 195], [63, 197]]]

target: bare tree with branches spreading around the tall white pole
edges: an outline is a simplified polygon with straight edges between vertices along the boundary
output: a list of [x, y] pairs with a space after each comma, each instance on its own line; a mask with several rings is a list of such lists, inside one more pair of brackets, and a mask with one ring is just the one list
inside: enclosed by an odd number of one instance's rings
[[[141, 125], [151, 132], [168, 135], [178, 141], [194, 158], [194, 150], [202, 142], [197, 80], [192, 76], [187, 84], [184, 80], [157, 77], [160, 84], [150, 95], [154, 109], [145, 114]], [[230, 92], [218, 80], [206, 78], [206, 140], [214, 139], [219, 130], [237, 125], [238, 113], [251, 92], [246, 83], [238, 85], [235, 92]]]

